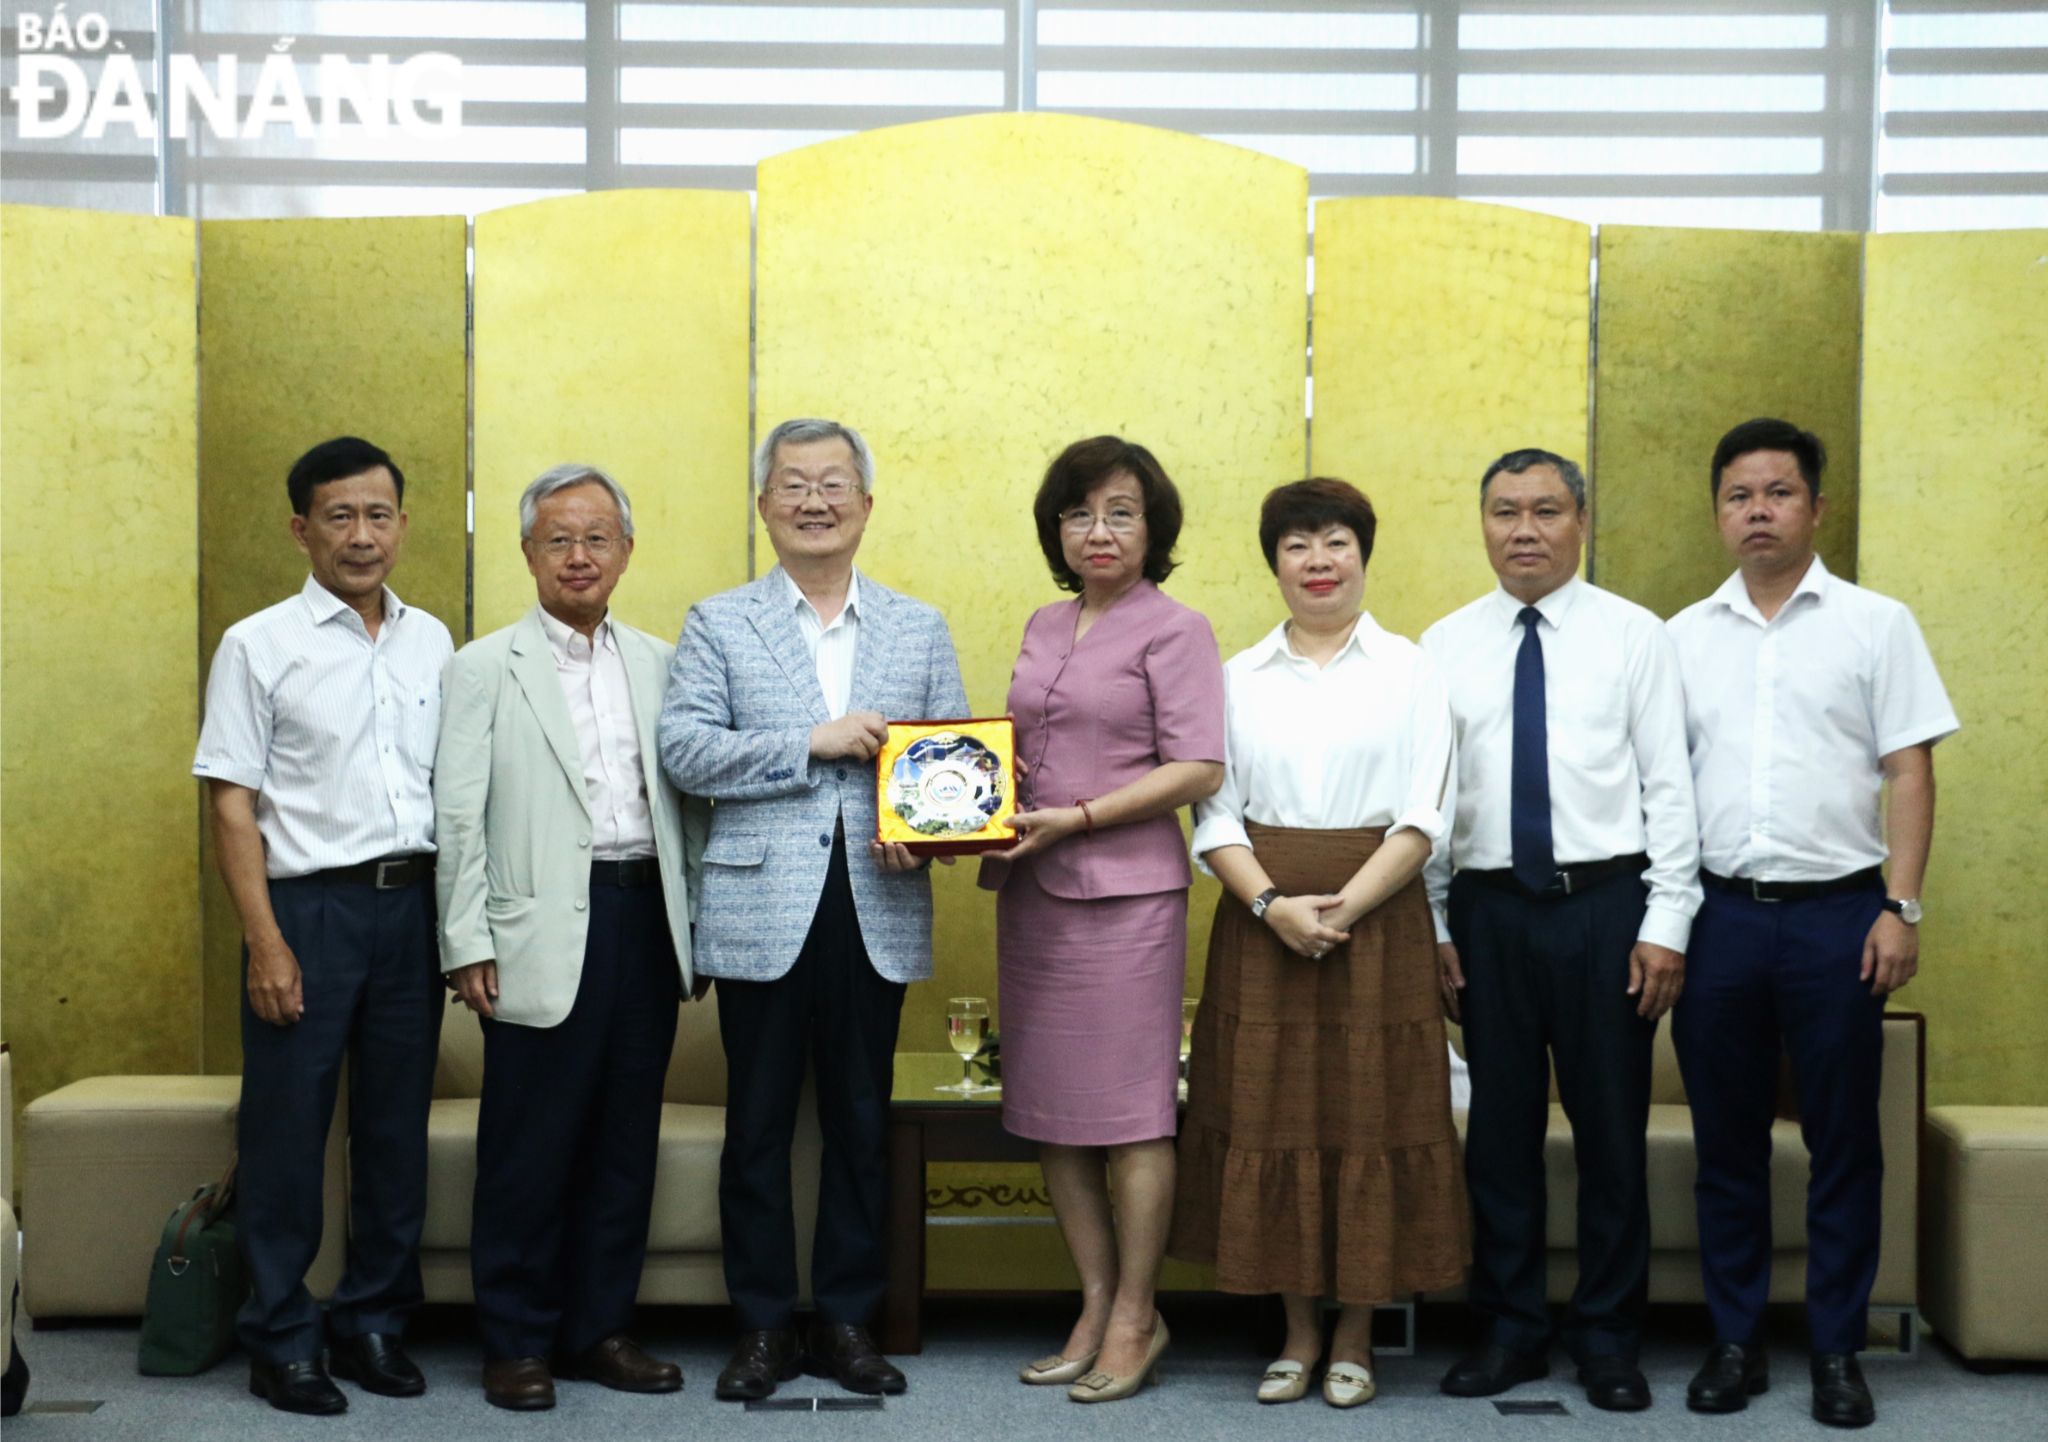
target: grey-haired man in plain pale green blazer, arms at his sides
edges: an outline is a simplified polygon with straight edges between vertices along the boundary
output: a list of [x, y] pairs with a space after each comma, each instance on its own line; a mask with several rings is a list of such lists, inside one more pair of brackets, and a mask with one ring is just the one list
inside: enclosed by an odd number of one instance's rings
[[520, 496], [520, 549], [539, 604], [449, 662], [434, 821], [440, 967], [483, 1026], [483, 1395], [537, 1411], [555, 1376], [682, 1387], [627, 1327], [709, 805], [662, 776], [670, 647], [610, 619], [625, 490], [547, 471]]

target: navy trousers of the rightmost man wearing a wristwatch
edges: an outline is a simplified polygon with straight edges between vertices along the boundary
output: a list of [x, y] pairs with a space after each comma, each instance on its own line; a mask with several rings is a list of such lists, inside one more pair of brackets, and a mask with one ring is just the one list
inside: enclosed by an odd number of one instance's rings
[[1862, 981], [1884, 893], [1755, 901], [1708, 889], [1692, 924], [1671, 1038], [1700, 1157], [1700, 1272], [1714, 1335], [1761, 1342], [1772, 1284], [1772, 1118], [1792, 1057], [1806, 1184], [1806, 1325], [1815, 1352], [1860, 1352], [1878, 1274], [1884, 1000]]

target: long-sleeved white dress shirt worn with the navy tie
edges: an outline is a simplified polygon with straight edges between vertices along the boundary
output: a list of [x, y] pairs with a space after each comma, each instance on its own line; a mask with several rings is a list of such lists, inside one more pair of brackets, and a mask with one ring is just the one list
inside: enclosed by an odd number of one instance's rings
[[[1686, 696], [1663, 623], [1569, 580], [1536, 602], [1550, 744], [1550, 846], [1559, 866], [1649, 852], [1638, 940], [1686, 950], [1700, 909], [1700, 832], [1686, 756]], [[1458, 807], [1425, 868], [1438, 940], [1452, 871], [1505, 871], [1522, 602], [1495, 588], [1423, 631], [1450, 688]]]

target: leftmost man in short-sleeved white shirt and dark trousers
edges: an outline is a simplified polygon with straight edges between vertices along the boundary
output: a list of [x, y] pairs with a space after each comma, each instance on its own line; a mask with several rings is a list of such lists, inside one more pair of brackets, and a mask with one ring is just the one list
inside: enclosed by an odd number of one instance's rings
[[385, 586], [406, 539], [406, 477], [379, 447], [326, 440], [291, 467], [291, 535], [311, 576], [227, 629], [193, 774], [242, 918], [236, 1331], [250, 1391], [338, 1413], [305, 1270], [348, 1069], [348, 1266], [326, 1317], [338, 1376], [426, 1389], [397, 1340], [420, 1303], [426, 1108], [440, 1041], [434, 946], [434, 744], [449, 629]]

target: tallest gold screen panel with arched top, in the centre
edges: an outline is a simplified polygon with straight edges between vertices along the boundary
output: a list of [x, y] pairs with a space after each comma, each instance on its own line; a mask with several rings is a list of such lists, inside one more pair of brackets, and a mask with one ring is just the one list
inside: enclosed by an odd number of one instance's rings
[[[1225, 655], [1280, 617], [1257, 502], [1303, 473], [1305, 207], [1294, 166], [1063, 115], [762, 164], [760, 428], [823, 414], [868, 438], [860, 565], [946, 614], [977, 711], [1001, 711], [1026, 617], [1063, 596], [1030, 500], [1083, 436], [1139, 440], [1176, 479], [1167, 592]], [[940, 1049], [948, 995], [995, 995], [995, 907], [973, 881], [971, 862], [938, 875], [938, 979], [911, 989], [909, 1051]], [[1214, 895], [1192, 899], [1190, 991]]]

